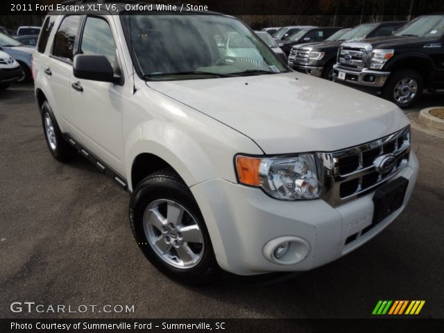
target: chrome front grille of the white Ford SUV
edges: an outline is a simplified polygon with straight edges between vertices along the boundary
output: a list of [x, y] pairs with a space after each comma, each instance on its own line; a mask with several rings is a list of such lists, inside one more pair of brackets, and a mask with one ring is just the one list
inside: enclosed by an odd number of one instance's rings
[[[409, 162], [410, 127], [373, 142], [333, 153], [318, 153], [322, 167], [323, 199], [337, 206], [377, 189], [399, 173]], [[392, 155], [395, 165], [378, 171], [377, 157]]]

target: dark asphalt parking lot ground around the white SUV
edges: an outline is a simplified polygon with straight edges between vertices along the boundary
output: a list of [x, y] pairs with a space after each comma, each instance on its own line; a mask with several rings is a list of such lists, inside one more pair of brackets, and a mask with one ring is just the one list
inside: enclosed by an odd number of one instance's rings
[[[420, 108], [443, 104], [425, 96]], [[51, 157], [32, 85], [0, 92], [0, 316], [10, 303], [135, 305], [131, 314], [64, 318], [362, 318], [377, 300], [444, 308], [444, 139], [415, 130], [418, 183], [397, 221], [365, 246], [314, 271], [266, 278], [219, 274], [210, 287], [172, 282], [149, 264], [128, 223], [129, 195], [78, 156]]]

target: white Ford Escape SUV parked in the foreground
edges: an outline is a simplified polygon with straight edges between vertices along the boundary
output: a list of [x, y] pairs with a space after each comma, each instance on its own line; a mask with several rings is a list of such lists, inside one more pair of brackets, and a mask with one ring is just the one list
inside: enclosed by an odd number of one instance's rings
[[[291, 71], [234, 17], [84, 14], [42, 27], [46, 142], [128, 189], [136, 243], [167, 275], [305, 271], [407, 205], [418, 161], [394, 104]], [[227, 33], [247, 51], [226, 56]]]

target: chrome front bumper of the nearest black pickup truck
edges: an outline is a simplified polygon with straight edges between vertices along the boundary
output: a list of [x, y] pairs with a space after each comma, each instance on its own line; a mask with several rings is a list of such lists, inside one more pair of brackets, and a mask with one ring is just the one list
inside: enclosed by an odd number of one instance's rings
[[[341, 78], [341, 75], [343, 78]], [[389, 71], [373, 71], [365, 68], [361, 69], [361, 71], [352, 71], [350, 69], [343, 69], [338, 65], [333, 66], [334, 80], [365, 87], [383, 87], [389, 75]]]

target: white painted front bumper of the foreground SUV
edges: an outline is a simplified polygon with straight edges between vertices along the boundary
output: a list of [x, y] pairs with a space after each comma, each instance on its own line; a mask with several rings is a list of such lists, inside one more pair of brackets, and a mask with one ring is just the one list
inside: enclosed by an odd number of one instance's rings
[[[307, 271], [350, 253], [386, 228], [407, 205], [417, 174], [418, 160], [411, 152], [408, 166], [397, 175], [409, 180], [402, 207], [365, 234], [362, 230], [373, 220], [373, 193], [332, 207], [323, 200], [275, 200], [260, 189], [221, 179], [201, 182], [191, 191], [221, 268], [239, 275]], [[264, 250], [278, 237], [301, 239], [308, 253], [297, 264], [271, 262]]]

